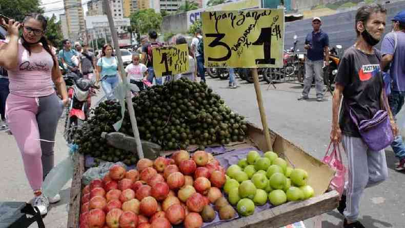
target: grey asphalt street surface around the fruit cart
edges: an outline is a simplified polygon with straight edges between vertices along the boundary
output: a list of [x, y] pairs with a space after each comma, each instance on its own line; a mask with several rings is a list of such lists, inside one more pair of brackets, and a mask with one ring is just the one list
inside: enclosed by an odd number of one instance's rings
[[[237, 80], [238, 88], [228, 88], [227, 80], [207, 78], [207, 83], [216, 91], [233, 110], [247, 117], [247, 120], [261, 126], [253, 84]], [[311, 89], [310, 99], [297, 101], [302, 88], [297, 84], [276, 84], [276, 89], [261, 82], [261, 93], [267, 113], [269, 127], [287, 140], [302, 147], [317, 159], [325, 154], [329, 143], [331, 127], [331, 94], [327, 93], [325, 101], [317, 102], [315, 90]], [[269, 87], [269, 90], [267, 88]], [[94, 97], [93, 104], [102, 97], [102, 92]], [[61, 119], [55, 145], [55, 163], [68, 156], [68, 147], [63, 138], [63, 119]], [[25, 177], [24, 167], [14, 138], [0, 132], [0, 148], [3, 159], [0, 162], [2, 172], [0, 179], [1, 201], [29, 201], [32, 191]], [[396, 159], [387, 149], [389, 178], [382, 184], [366, 189], [361, 199], [359, 220], [367, 228], [405, 227], [405, 173], [394, 170]], [[59, 228], [67, 225], [67, 210], [70, 198], [70, 182], [62, 191], [62, 201], [52, 204], [44, 218], [46, 227]], [[320, 217], [323, 228], [342, 226], [342, 216], [335, 210]], [[305, 221], [307, 228], [314, 226], [314, 219]], [[30, 227], [37, 227], [31, 225]]]

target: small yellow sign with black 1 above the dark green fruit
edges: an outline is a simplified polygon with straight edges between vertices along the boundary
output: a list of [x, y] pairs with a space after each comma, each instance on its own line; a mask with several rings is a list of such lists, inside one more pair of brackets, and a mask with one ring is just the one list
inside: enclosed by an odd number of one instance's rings
[[174, 75], [188, 71], [188, 48], [188, 44], [153, 48], [153, 69], [156, 77]]

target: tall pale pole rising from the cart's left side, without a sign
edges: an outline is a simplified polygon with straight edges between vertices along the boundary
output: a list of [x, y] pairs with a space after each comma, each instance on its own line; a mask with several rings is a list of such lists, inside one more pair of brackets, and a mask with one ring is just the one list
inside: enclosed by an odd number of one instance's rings
[[[112, 13], [111, 13], [111, 8], [110, 8], [110, 3], [108, 0], [104, 0], [106, 2], [106, 11], [107, 11], [107, 17], [108, 17], [108, 24], [110, 25], [110, 31], [111, 31], [111, 38], [114, 43], [114, 49], [115, 53], [118, 58], [118, 67], [119, 71], [121, 74], [121, 79], [123, 82], [127, 81], [127, 75], [124, 70], [124, 63], [123, 60], [121, 59], [121, 51], [119, 50], [119, 44], [118, 44], [118, 34], [115, 30], [114, 26], [114, 20], [112, 18]], [[131, 120], [131, 125], [132, 125], [132, 132], [134, 134], [135, 142], [136, 142], [136, 152], [138, 154], [139, 159], [144, 158], [144, 152], [142, 150], [142, 145], [140, 143], [140, 137], [139, 137], [139, 131], [138, 131], [138, 125], [136, 123], [136, 118], [135, 118], [135, 111], [134, 107], [132, 106], [132, 99], [131, 99], [131, 92], [128, 90], [126, 94], [126, 100], [127, 100], [127, 107], [128, 107], [128, 112], [129, 112], [129, 118]]]

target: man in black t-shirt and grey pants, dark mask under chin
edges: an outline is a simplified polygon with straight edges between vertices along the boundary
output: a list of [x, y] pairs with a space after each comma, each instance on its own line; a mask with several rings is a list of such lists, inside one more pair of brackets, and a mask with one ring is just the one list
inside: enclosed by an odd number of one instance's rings
[[357, 10], [357, 41], [343, 54], [335, 79], [331, 140], [336, 144], [342, 141], [348, 157], [349, 182], [338, 207], [338, 211], [345, 216], [345, 228], [365, 227], [357, 220], [361, 195], [365, 188], [388, 178], [384, 149], [370, 149], [361, 138], [351, 116], [357, 122], [371, 120], [377, 111], [385, 107], [383, 109], [387, 109], [393, 134], [396, 135], [398, 131], [384, 96], [380, 72], [381, 54], [374, 47], [384, 32], [386, 12], [379, 4], [362, 6]]

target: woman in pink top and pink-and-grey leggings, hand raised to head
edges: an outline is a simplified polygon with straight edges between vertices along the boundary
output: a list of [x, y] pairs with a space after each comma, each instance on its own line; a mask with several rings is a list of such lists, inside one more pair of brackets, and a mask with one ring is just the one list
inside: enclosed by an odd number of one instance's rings
[[[26, 16], [21, 24], [10, 20], [5, 26], [10, 39], [0, 41], [0, 66], [8, 70], [10, 80], [6, 116], [34, 192], [33, 204], [44, 215], [49, 201], [60, 200], [58, 195], [52, 199], [45, 197], [41, 187], [54, 165], [56, 126], [68, 94], [55, 54], [44, 36], [46, 18], [34, 13]], [[22, 29], [21, 39], [19, 29]]]

